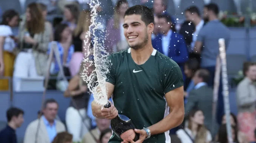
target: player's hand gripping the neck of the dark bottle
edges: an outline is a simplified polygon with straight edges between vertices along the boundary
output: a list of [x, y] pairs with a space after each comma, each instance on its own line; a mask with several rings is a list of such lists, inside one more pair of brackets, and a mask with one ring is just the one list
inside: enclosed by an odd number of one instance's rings
[[118, 111], [116, 110], [116, 107], [111, 103], [111, 101], [108, 101], [111, 104], [111, 107], [109, 108], [102, 108], [101, 109], [101, 116], [105, 117], [105, 119], [111, 120], [114, 119], [118, 115]]

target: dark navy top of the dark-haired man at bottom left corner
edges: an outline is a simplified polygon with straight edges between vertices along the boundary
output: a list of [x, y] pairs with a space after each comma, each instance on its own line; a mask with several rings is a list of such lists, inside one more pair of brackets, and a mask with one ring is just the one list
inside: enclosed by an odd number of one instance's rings
[[15, 130], [7, 125], [0, 132], [0, 143], [17, 143]]

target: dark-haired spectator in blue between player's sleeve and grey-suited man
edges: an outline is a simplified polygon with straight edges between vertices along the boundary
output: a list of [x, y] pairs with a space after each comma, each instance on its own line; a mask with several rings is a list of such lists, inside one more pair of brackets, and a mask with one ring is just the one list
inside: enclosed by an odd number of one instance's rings
[[184, 96], [186, 98], [188, 98], [188, 93], [194, 89], [195, 84], [192, 78], [198, 69], [199, 62], [196, 59], [189, 59], [184, 65], [184, 73], [186, 75], [186, 80], [184, 81]]

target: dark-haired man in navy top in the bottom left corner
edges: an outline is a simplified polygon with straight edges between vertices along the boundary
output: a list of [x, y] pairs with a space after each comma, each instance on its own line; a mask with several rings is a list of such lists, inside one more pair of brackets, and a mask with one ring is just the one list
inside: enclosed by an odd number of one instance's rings
[[24, 111], [19, 108], [11, 107], [6, 112], [8, 125], [0, 131], [1, 143], [17, 143], [16, 129], [24, 122]]

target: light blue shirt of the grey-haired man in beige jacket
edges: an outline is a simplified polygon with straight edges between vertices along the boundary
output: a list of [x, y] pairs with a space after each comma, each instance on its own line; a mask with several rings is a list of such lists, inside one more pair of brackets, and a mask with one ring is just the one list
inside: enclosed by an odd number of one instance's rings
[[46, 130], [49, 135], [49, 140], [50, 140], [50, 142], [52, 142], [54, 137], [57, 135], [56, 120], [54, 120], [54, 123], [52, 125], [50, 125], [48, 120], [46, 120], [45, 116], [42, 116], [42, 119], [43, 119], [43, 123], [45, 123], [45, 127], [46, 127]]

